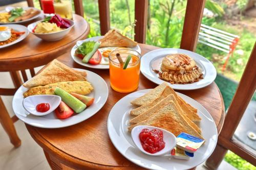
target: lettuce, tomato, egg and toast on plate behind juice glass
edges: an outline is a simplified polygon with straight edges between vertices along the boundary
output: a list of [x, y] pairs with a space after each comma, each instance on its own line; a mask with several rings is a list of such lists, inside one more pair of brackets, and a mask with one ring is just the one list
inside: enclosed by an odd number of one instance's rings
[[137, 42], [123, 36], [116, 30], [110, 30], [99, 41], [84, 41], [77, 46], [74, 56], [82, 59], [83, 63], [92, 65], [109, 65], [109, 54], [118, 48], [129, 49], [137, 45]]

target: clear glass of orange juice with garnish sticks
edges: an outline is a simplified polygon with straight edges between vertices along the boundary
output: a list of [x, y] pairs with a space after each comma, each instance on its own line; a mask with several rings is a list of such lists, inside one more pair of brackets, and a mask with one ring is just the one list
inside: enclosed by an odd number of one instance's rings
[[[123, 63], [119, 62], [120, 55]], [[125, 61], [130, 58], [130, 62]], [[138, 88], [140, 75], [140, 54], [130, 49], [118, 49], [109, 54], [110, 85], [118, 92], [131, 92]], [[125, 68], [126, 65], [126, 68]]]

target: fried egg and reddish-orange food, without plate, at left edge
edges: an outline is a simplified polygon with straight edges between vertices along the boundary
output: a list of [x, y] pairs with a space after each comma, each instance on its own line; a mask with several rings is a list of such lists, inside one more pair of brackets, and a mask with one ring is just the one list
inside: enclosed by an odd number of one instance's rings
[[17, 40], [25, 32], [17, 32], [10, 27], [0, 27], [0, 46]]

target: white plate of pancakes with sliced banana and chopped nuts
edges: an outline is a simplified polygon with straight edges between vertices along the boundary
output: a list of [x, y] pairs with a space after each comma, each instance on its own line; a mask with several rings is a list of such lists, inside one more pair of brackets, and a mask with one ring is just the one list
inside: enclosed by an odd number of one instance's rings
[[150, 81], [169, 82], [177, 90], [203, 88], [214, 82], [217, 71], [203, 56], [177, 48], [161, 48], [141, 58], [140, 70]]

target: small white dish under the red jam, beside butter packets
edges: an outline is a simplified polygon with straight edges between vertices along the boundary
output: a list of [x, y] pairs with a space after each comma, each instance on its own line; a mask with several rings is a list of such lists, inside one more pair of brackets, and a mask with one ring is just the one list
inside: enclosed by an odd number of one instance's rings
[[[145, 130], [145, 129], [147, 129], [147, 130]], [[154, 135], [154, 136], [159, 137], [157, 139], [158, 142], [161, 142], [162, 140], [164, 141], [164, 143], [165, 143], [164, 148], [162, 148], [161, 150], [159, 150], [155, 153], [150, 153], [150, 152], [146, 151], [142, 147], [142, 141], [140, 140], [140, 137], [139, 137], [140, 133], [144, 132], [144, 131], [146, 131], [146, 132], [151, 131], [150, 133], [152, 133], [152, 132], [157, 132], [157, 133], [161, 132], [162, 135], [157, 134], [157, 135]], [[153, 127], [153, 126], [136, 126], [136, 127], [133, 128], [133, 130], [131, 132], [131, 135], [132, 135], [132, 139], [133, 139], [133, 142], [135, 143], [136, 147], [141, 152], [143, 152], [144, 154], [147, 154], [147, 155], [159, 156], [159, 155], [170, 154], [170, 151], [172, 151], [172, 149], [174, 149], [174, 147], [176, 146], [176, 137], [173, 133], [171, 133], [167, 130], [161, 129], [161, 128]]]

